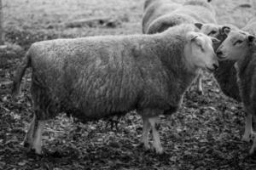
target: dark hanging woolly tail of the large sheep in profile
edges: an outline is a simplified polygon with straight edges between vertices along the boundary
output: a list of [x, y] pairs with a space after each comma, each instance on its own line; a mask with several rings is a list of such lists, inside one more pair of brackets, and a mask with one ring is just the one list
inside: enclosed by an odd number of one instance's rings
[[20, 83], [21, 83], [22, 77], [25, 74], [26, 68], [29, 67], [30, 65], [31, 65], [31, 56], [29, 52], [27, 52], [25, 59], [22, 61], [13, 79], [13, 85], [11, 90], [11, 95], [13, 99], [16, 99], [17, 96], [20, 94]]

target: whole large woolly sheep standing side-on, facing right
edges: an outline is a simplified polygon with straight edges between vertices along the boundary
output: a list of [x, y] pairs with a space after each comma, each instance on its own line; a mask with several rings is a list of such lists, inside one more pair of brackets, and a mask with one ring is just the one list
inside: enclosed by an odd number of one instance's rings
[[152, 127], [152, 149], [163, 153], [159, 115], [177, 111], [199, 69], [218, 67], [212, 39], [194, 25], [181, 25], [154, 35], [33, 43], [12, 88], [15, 99], [26, 68], [32, 67], [34, 116], [25, 146], [41, 154], [44, 122], [60, 112], [87, 122], [137, 111], [143, 117], [144, 147], [150, 149]]

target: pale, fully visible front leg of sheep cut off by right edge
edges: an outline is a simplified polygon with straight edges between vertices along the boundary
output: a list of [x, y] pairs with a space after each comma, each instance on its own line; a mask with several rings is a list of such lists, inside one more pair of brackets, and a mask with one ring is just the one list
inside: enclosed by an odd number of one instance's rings
[[246, 111], [245, 117], [245, 132], [242, 136], [243, 141], [249, 142], [252, 139], [253, 135], [253, 122], [252, 122], [253, 115]]

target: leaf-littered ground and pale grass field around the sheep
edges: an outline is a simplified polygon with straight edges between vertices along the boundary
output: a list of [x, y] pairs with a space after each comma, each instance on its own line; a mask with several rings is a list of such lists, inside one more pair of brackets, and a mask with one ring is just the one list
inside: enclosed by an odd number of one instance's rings
[[[255, 13], [253, 1], [212, 1], [220, 24], [242, 27]], [[3, 13], [9, 49], [2, 53], [0, 48], [0, 169], [256, 169], [256, 159], [247, 156], [252, 143], [241, 141], [242, 106], [225, 97], [208, 73], [204, 95], [193, 86], [182, 109], [161, 117], [161, 156], [139, 144], [142, 121], [134, 112], [122, 117], [118, 128], [102, 120], [82, 124], [61, 114], [44, 128], [44, 156], [26, 152], [20, 143], [32, 120], [30, 71], [18, 102], [9, 96], [10, 79], [26, 49], [57, 37], [140, 34], [143, 0], [3, 0]], [[91, 17], [110, 17], [113, 25], [67, 27]]]

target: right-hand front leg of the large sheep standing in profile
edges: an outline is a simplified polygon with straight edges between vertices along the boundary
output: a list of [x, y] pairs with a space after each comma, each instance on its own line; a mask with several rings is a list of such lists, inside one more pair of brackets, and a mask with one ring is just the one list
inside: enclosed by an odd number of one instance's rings
[[163, 147], [160, 143], [160, 133], [158, 130], [160, 129], [160, 117], [154, 116], [148, 118], [148, 122], [150, 123], [152, 127], [152, 133], [153, 133], [153, 148], [157, 154], [162, 154], [164, 152]]

